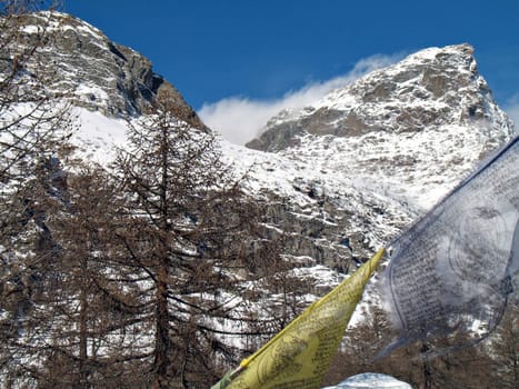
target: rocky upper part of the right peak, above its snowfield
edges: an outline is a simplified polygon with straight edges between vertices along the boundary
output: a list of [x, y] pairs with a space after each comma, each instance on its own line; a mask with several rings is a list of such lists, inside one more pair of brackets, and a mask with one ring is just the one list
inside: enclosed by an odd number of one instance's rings
[[477, 121], [511, 129], [478, 73], [472, 53], [469, 44], [422, 50], [337, 89], [299, 112], [283, 112], [247, 146], [279, 151], [297, 147], [305, 134], [413, 133]]

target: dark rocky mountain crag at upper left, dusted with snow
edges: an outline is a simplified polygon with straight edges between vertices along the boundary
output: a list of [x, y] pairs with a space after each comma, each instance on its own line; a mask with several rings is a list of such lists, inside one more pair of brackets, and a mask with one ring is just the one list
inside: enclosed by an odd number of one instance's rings
[[[44, 71], [57, 92], [76, 106], [99, 110], [106, 116], [137, 116], [162, 89], [170, 91], [180, 119], [206, 128], [176, 88], [152, 70], [151, 62], [130, 48], [110, 41], [94, 27], [71, 16], [40, 12], [19, 17], [19, 46], [44, 39], [38, 50], [38, 71]], [[41, 69], [43, 66], [43, 69]]]

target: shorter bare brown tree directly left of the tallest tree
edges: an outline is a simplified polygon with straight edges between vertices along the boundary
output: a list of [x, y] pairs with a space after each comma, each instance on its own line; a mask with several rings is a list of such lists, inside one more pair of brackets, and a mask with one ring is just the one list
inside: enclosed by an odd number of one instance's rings
[[[141, 286], [117, 233], [126, 221], [118, 188], [100, 168], [74, 168], [61, 212], [49, 216], [59, 248], [60, 282], [47, 311], [44, 369], [40, 386], [92, 388], [142, 386], [132, 371], [149, 353], [139, 349]], [[130, 350], [131, 349], [131, 350]], [[61, 373], [59, 373], [61, 371]]]

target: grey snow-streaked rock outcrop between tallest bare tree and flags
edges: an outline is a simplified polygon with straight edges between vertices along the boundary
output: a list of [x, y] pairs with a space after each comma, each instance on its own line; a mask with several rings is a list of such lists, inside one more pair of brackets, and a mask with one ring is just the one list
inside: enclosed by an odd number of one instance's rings
[[[355, 213], [341, 208], [338, 199], [312, 194], [311, 189], [306, 194], [311, 206], [300, 207], [275, 193], [261, 201], [269, 227], [266, 237], [281, 239], [285, 256], [298, 266], [323, 265], [349, 273], [410, 221], [405, 212], [370, 196], [350, 200], [362, 203], [362, 212]], [[368, 238], [373, 232], [377, 239]]]

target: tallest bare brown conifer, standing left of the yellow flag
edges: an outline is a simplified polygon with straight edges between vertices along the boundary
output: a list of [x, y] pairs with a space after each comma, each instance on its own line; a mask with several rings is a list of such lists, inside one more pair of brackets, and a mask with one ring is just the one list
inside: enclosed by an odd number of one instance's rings
[[120, 239], [152, 307], [141, 323], [153, 332], [146, 373], [153, 388], [206, 387], [221, 358], [236, 358], [223, 339], [247, 331], [246, 308], [232, 301], [239, 276], [247, 276], [257, 215], [222, 163], [214, 134], [180, 121], [167, 91], [129, 139], [116, 163], [131, 218]]

